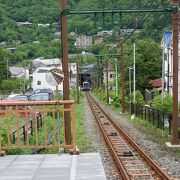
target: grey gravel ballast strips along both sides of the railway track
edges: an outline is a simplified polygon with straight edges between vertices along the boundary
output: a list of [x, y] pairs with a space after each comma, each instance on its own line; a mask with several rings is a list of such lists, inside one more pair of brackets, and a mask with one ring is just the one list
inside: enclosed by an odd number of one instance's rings
[[[100, 103], [100, 102], [99, 102]], [[85, 128], [86, 134], [92, 140], [92, 151], [99, 152], [102, 157], [104, 169], [108, 180], [119, 179], [115, 177], [116, 170], [113, 165], [114, 162], [109, 155], [108, 149], [106, 148], [105, 142], [101, 137], [99, 128], [94, 120], [94, 116], [91, 113], [87, 100], [84, 100], [84, 111], [85, 111]], [[170, 155], [164, 147], [160, 146], [156, 142], [153, 142], [149, 135], [141, 132], [133, 123], [128, 122], [121, 114], [109, 109], [109, 107], [102, 105], [104, 109], [110, 114], [110, 116], [126, 131], [128, 135], [138, 144], [142, 149], [162, 168], [171, 172], [174, 176], [178, 176], [180, 179], [180, 162], [175, 157]]]

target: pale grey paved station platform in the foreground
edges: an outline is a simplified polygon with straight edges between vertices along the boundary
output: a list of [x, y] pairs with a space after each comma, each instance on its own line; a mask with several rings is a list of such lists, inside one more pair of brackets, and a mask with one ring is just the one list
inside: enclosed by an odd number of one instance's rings
[[105, 180], [98, 153], [6, 155], [0, 157], [0, 180]]

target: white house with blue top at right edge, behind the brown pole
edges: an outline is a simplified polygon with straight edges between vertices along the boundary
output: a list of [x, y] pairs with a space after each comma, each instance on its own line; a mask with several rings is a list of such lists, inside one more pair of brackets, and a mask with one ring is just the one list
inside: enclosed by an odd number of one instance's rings
[[[180, 41], [179, 41], [180, 44]], [[172, 31], [163, 34], [161, 47], [163, 51], [162, 59], [162, 91], [173, 94], [173, 40]], [[180, 47], [178, 50], [178, 61], [180, 61]], [[178, 68], [178, 79], [180, 79], [180, 63]], [[180, 81], [178, 81], [178, 99], [180, 101]]]

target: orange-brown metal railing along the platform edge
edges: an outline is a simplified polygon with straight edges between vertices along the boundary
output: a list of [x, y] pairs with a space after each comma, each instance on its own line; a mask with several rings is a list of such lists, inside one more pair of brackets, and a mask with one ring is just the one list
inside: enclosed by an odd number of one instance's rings
[[[66, 105], [66, 106], [65, 106]], [[68, 107], [68, 108], [65, 108]], [[70, 145], [64, 134], [64, 112], [70, 112]], [[75, 101], [0, 101], [0, 155], [11, 149], [63, 148], [76, 154]]]

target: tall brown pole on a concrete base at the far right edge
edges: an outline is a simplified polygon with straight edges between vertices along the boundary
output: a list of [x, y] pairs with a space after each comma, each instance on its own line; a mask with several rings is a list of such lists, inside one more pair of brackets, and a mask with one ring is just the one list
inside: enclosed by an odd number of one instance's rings
[[[173, 0], [173, 6], [179, 6], [179, 0]], [[172, 144], [179, 144], [178, 139], [178, 26], [179, 14], [173, 14], [173, 138]]]

